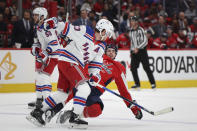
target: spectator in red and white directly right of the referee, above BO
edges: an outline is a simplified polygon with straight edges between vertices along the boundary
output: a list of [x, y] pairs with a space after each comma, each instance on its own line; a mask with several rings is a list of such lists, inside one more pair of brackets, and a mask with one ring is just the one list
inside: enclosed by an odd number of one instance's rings
[[162, 35], [153, 41], [153, 48], [167, 49], [168, 34], [163, 32]]

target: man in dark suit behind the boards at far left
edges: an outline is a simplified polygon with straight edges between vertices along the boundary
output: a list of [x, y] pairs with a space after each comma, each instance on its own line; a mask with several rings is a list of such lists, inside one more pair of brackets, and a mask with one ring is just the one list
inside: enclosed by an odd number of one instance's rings
[[33, 23], [30, 16], [30, 11], [25, 10], [23, 18], [14, 24], [11, 43], [13, 47], [21, 44], [21, 48], [30, 48], [33, 44]]

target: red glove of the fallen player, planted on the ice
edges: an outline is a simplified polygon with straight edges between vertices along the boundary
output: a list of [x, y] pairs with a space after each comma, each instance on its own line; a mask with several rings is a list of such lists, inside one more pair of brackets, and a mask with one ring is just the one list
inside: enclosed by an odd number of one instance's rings
[[[134, 103], [136, 103], [135, 100], [133, 100]], [[135, 118], [140, 120], [143, 117], [142, 111], [139, 107], [135, 106], [134, 104], [131, 104], [129, 106], [129, 108], [131, 109], [131, 111], [133, 112], [133, 114], [135, 115]]]

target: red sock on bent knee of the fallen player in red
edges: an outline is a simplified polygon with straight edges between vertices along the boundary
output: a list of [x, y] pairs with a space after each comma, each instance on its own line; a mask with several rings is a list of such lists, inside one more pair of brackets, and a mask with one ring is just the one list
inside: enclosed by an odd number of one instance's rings
[[83, 110], [84, 117], [97, 117], [102, 113], [100, 104], [96, 103], [91, 106], [86, 106]]

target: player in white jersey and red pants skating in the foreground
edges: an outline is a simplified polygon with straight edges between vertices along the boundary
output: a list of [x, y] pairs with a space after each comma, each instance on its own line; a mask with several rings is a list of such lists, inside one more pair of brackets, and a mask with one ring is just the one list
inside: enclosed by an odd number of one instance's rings
[[[113, 30], [113, 25], [106, 19], [97, 22], [95, 33], [89, 26], [73, 26], [68, 22], [65, 23], [61, 37], [69, 37], [74, 42], [68, 44], [64, 49], [58, 50], [60, 54], [58, 60], [58, 92], [52, 93], [45, 99], [43, 108], [35, 109], [30, 113], [28, 119], [32, 123], [39, 126], [45, 125], [42, 118], [43, 113], [55, 108], [58, 103], [64, 103], [68, 95], [72, 93], [73, 88], [75, 88], [77, 92], [73, 98], [74, 111], [69, 120], [70, 126], [73, 128], [87, 128], [88, 122], [81, 118], [83, 117], [86, 99], [90, 94], [88, 82], [90, 85], [95, 86], [100, 81], [100, 70], [103, 63], [102, 55], [106, 46], [103, 41], [112, 36]], [[98, 44], [93, 42], [94, 35], [95, 40], [100, 41]], [[89, 65], [90, 78], [84, 70], [86, 64]]]

